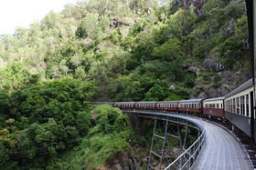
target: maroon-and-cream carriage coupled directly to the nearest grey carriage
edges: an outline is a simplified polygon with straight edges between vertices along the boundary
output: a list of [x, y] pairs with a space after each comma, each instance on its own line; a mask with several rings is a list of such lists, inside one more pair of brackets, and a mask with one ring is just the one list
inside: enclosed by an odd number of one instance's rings
[[224, 96], [203, 100], [203, 113], [214, 117], [224, 117]]

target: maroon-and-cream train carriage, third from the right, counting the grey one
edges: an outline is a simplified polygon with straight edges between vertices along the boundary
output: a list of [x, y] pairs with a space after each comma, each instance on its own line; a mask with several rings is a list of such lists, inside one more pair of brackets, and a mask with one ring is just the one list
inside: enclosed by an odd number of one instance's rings
[[181, 100], [178, 103], [179, 112], [202, 113], [203, 99]]

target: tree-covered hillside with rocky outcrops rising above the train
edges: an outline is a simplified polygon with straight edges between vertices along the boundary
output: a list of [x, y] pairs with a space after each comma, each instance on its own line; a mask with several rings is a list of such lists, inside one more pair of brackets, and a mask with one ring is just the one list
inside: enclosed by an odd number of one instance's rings
[[12, 65], [94, 80], [95, 99], [112, 101], [214, 97], [250, 78], [244, 1], [170, 2], [81, 1], [1, 35], [0, 87], [26, 83]]

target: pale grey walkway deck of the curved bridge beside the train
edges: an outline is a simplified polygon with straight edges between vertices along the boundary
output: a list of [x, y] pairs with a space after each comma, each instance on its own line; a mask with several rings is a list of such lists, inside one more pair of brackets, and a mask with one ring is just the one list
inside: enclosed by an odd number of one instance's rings
[[219, 125], [204, 121], [206, 144], [193, 167], [195, 170], [250, 170], [249, 155], [239, 139]]

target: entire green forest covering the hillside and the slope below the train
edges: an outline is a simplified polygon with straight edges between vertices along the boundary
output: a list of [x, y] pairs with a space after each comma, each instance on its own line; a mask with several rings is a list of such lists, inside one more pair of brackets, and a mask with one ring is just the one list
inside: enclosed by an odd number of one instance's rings
[[100, 168], [146, 140], [91, 101], [216, 97], [250, 77], [244, 0], [66, 5], [0, 35], [0, 169]]

